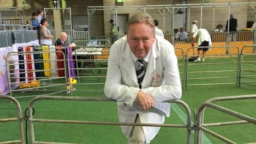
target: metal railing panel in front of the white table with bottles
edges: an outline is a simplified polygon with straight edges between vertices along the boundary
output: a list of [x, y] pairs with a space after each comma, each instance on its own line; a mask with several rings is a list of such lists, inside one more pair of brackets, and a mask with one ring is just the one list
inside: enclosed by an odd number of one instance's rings
[[[69, 78], [72, 77], [78, 81], [75, 84], [70, 83], [72, 88], [75, 85], [105, 85], [106, 70], [108, 68], [103, 64], [108, 63], [109, 49], [110, 46], [85, 46], [77, 47], [75, 51], [68, 52], [68, 55], [73, 55], [73, 59], [67, 57], [69, 71], [74, 70], [74, 73], [76, 73], [76, 76], [70, 76], [69, 73]], [[70, 63], [73, 62], [75, 66], [70, 68]], [[101, 74], [102, 71], [104, 71], [104, 74]], [[72, 94], [72, 91], [103, 92], [103, 90], [92, 90], [85, 87], [82, 90], [76, 88], [70, 90], [70, 94]]]

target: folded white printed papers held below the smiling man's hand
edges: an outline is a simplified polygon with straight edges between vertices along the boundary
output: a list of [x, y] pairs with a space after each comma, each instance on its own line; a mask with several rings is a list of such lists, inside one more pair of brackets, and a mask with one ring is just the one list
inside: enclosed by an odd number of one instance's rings
[[[128, 111], [143, 111], [143, 109], [139, 106], [139, 103], [137, 102], [134, 102], [132, 107], [130, 107], [129, 105], [127, 105], [126, 107]], [[151, 109], [145, 110], [143, 112], [152, 112], [169, 117], [170, 109], [170, 103], [155, 102], [155, 105], [151, 105]]]

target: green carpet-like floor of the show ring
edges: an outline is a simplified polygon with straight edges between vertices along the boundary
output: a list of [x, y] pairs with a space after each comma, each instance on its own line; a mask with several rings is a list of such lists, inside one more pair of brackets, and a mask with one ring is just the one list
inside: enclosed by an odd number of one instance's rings
[[[245, 57], [244, 60], [256, 61], [255, 57]], [[235, 57], [218, 57], [206, 58], [204, 63], [224, 63], [236, 62]], [[181, 63], [181, 59], [179, 59]], [[195, 63], [189, 63], [195, 64]], [[236, 70], [237, 64], [224, 65], [189, 65], [188, 72], [211, 71], [211, 70]], [[243, 69], [256, 68], [256, 65], [246, 64]], [[180, 72], [182, 67], [180, 66]], [[91, 73], [91, 70], [83, 70], [82, 73]], [[102, 70], [100, 74], [106, 74], [106, 70]], [[255, 72], [243, 72], [243, 75], [254, 75]], [[209, 77], [233, 77], [236, 72], [210, 72], [210, 73], [189, 73], [188, 78], [209, 78]], [[90, 78], [96, 79], [96, 78]], [[104, 80], [104, 78], [101, 78]], [[63, 80], [64, 81], [64, 80]], [[61, 83], [63, 81], [53, 81], [53, 83]], [[253, 81], [250, 79], [242, 79], [242, 81]], [[81, 80], [81, 83], [104, 83], [98, 81]], [[48, 81], [46, 81], [48, 83]], [[196, 79], [189, 80], [188, 85], [197, 85], [205, 83], [236, 83], [236, 78], [215, 78], [215, 79]], [[254, 83], [255, 84], [255, 83]], [[61, 89], [62, 86], [58, 86]], [[74, 85], [76, 90], [103, 90], [104, 85]], [[50, 87], [49, 89], [56, 89]], [[46, 91], [34, 92], [14, 92], [13, 96], [27, 96], [34, 94], [46, 94]], [[236, 84], [228, 85], [200, 85], [188, 86], [187, 90], [183, 90], [181, 100], [189, 105], [194, 121], [193, 110], [198, 110], [198, 107], [206, 102], [206, 100], [218, 96], [236, 96], [256, 94], [256, 87], [251, 85], [241, 85], [236, 87]], [[54, 94], [65, 96], [65, 92]], [[90, 96], [104, 98], [103, 92], [72, 92], [72, 96]], [[21, 107], [22, 115], [28, 106], [32, 97], [17, 98]], [[218, 105], [232, 109], [239, 113], [248, 116], [256, 117], [256, 100], [236, 100], [226, 102], [215, 102]], [[118, 122], [117, 106], [115, 102], [82, 102], [82, 101], [59, 101], [59, 100], [39, 100], [34, 103], [35, 114], [33, 118], [42, 119], [60, 119], [60, 120], [86, 120], [100, 122]], [[184, 111], [182, 107], [180, 107]], [[9, 100], [0, 100], [0, 119], [11, 118], [16, 116], [16, 108]], [[239, 120], [227, 114], [206, 109], [204, 123], [211, 122], [227, 122]], [[180, 117], [171, 110], [171, 116], [165, 119], [166, 124], [184, 124]], [[0, 123], [0, 141], [8, 141], [19, 139], [19, 126], [17, 122], [1, 122]], [[25, 129], [25, 126], [24, 126]], [[240, 124], [234, 126], [218, 126], [211, 127], [210, 130], [229, 138], [237, 144], [256, 142], [256, 126], [253, 124]], [[65, 143], [83, 143], [83, 144], [126, 144], [126, 138], [121, 132], [119, 126], [101, 126], [101, 125], [82, 125], [82, 124], [46, 124], [34, 123], [35, 140], [45, 142], [65, 142]], [[29, 135], [29, 133], [28, 133]], [[29, 136], [28, 136], [29, 137]], [[191, 135], [191, 143], [193, 143], [194, 135]], [[206, 134], [213, 144], [224, 144]], [[28, 138], [30, 139], [30, 138]], [[30, 142], [28, 142], [30, 143]], [[158, 135], [151, 141], [150, 144], [185, 144], [186, 129], [183, 128], [161, 128]], [[204, 142], [206, 144], [206, 142]]]

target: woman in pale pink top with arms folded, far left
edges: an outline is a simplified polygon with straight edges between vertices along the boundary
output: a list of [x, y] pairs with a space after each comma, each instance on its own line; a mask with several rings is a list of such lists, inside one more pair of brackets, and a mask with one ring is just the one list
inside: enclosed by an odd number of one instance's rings
[[42, 45], [52, 45], [53, 36], [46, 28], [46, 26], [49, 26], [46, 18], [42, 18], [40, 24], [42, 25], [39, 30], [40, 43]]

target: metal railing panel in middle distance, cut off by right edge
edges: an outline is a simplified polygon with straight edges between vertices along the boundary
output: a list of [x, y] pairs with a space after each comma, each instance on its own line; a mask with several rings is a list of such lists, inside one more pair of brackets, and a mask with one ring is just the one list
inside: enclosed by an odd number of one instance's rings
[[[245, 53], [244, 51], [247, 48], [252, 48], [251, 53]], [[245, 85], [254, 85], [256, 86], [256, 53], [255, 53], [255, 48], [256, 44], [253, 45], [245, 45], [240, 54], [240, 72], [239, 72], [239, 87], [241, 87], [241, 84]], [[247, 56], [249, 59], [245, 59], [244, 57]], [[243, 69], [244, 66], [251, 65], [254, 66], [254, 68], [245, 68]], [[243, 75], [243, 72], [254, 74], [254, 75]], [[251, 79], [250, 81], [242, 81], [242, 79]], [[254, 81], [253, 81], [254, 80]]]

